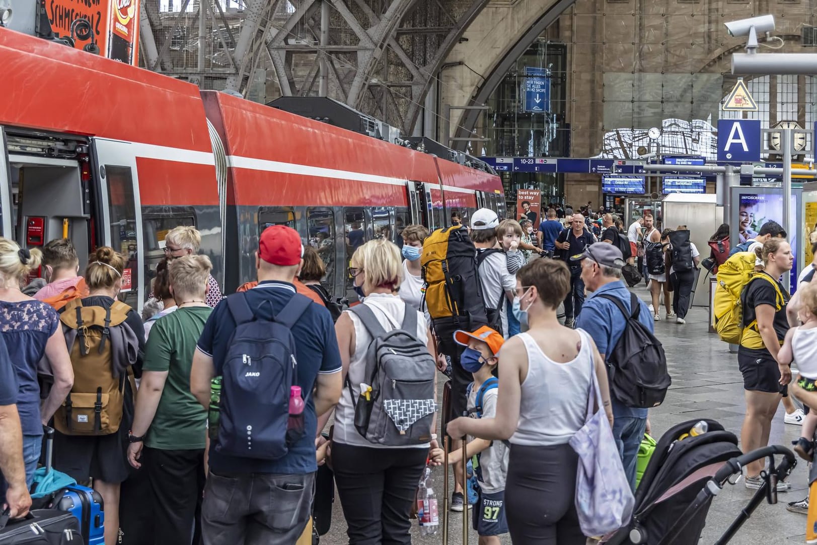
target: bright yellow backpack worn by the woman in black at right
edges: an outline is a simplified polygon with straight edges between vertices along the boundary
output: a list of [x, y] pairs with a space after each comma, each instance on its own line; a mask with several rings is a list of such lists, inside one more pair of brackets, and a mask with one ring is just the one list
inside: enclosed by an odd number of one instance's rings
[[[755, 270], [757, 256], [754, 252], [737, 252], [724, 261], [717, 270], [717, 285], [712, 314], [715, 319], [715, 331], [721, 341], [730, 344], [740, 344], [745, 329], [757, 333], [757, 320], [743, 327], [743, 290], [753, 279], [761, 278], [775, 286], [778, 295], [779, 308], [785, 304], [783, 293], [777, 283], [769, 277]], [[762, 347], [762, 340], [761, 340]]]

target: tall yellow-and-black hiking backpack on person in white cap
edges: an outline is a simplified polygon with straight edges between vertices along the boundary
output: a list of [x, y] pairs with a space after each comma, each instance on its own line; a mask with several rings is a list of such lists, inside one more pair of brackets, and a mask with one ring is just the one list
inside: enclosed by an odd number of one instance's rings
[[422, 244], [424, 304], [444, 354], [458, 354], [453, 334], [488, 324], [476, 248], [465, 226], [435, 230]]

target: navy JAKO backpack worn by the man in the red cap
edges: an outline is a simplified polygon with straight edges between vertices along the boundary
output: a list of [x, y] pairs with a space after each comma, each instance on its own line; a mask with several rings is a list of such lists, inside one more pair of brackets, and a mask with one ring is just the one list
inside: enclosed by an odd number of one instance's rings
[[297, 384], [292, 326], [312, 304], [296, 293], [273, 319], [252, 312], [246, 293], [227, 297], [235, 331], [221, 368], [218, 453], [277, 460], [303, 437], [289, 427], [289, 395]]

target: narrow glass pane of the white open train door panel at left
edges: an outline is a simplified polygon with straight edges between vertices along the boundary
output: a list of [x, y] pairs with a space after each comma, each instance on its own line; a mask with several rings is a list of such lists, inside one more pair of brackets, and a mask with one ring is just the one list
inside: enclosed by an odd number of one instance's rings
[[114, 250], [125, 256], [122, 278], [123, 301], [137, 308], [139, 301], [138, 246], [136, 243], [136, 203], [133, 178], [128, 167], [105, 165], [108, 182], [110, 241]]

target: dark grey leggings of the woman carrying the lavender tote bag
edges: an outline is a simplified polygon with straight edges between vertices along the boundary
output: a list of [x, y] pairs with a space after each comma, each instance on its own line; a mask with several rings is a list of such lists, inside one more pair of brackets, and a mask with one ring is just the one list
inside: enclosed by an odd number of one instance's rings
[[576, 514], [578, 455], [569, 444], [511, 444], [505, 515], [516, 545], [584, 545]]

